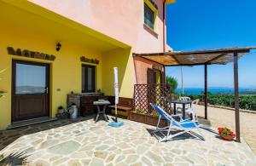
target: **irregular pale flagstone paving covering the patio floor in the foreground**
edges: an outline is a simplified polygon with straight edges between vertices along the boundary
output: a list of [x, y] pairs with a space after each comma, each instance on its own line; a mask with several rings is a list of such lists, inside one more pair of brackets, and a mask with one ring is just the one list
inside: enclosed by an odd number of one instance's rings
[[119, 129], [93, 119], [61, 120], [0, 132], [0, 154], [25, 152], [27, 165], [256, 165], [244, 140], [224, 141], [210, 127], [206, 140], [188, 135], [158, 142], [143, 123]]

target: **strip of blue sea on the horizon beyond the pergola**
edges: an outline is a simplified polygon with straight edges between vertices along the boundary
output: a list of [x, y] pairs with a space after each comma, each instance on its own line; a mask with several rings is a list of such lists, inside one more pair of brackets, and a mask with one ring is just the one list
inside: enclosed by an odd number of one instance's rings
[[[177, 94], [182, 93], [181, 88], [176, 89]], [[234, 94], [233, 88], [208, 88], [208, 92], [212, 94]], [[203, 88], [184, 88], [184, 94], [201, 94], [204, 93]], [[256, 94], [256, 89], [240, 88], [240, 94]]]

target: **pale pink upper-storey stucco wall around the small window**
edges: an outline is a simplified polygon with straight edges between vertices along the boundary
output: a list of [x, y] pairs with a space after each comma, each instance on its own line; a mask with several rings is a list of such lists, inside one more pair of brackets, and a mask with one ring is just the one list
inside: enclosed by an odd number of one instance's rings
[[132, 52], [163, 51], [163, 0], [158, 6], [157, 35], [143, 26], [143, 0], [30, 0], [39, 6], [61, 14], [131, 45]]

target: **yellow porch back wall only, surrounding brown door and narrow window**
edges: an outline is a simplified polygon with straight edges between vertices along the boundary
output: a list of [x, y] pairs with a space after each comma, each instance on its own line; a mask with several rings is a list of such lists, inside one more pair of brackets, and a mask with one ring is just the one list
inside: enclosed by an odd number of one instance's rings
[[[96, 50], [86, 49], [77, 44], [61, 42], [61, 51], [55, 51], [55, 39], [30, 34], [27, 31], [13, 31], [0, 29], [0, 69], [8, 68], [1, 74], [0, 89], [7, 91], [5, 98], [0, 99], [0, 129], [5, 129], [11, 122], [11, 64], [12, 60], [31, 60], [50, 64], [50, 117], [55, 117], [58, 106], [66, 107], [67, 94], [81, 92], [80, 56], [96, 58], [100, 64], [96, 65], [96, 89], [102, 89], [102, 54]], [[24, 58], [7, 53], [7, 47], [28, 49], [45, 54], [54, 54], [55, 61]], [[92, 65], [92, 64], [90, 64]], [[61, 89], [61, 91], [57, 91]]]

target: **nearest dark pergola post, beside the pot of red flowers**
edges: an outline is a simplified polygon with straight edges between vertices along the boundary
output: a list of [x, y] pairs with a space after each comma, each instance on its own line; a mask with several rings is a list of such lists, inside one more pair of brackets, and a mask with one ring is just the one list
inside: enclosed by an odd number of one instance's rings
[[235, 89], [236, 141], [240, 142], [239, 91], [238, 91], [238, 54], [237, 54], [237, 52], [234, 52], [234, 89]]

